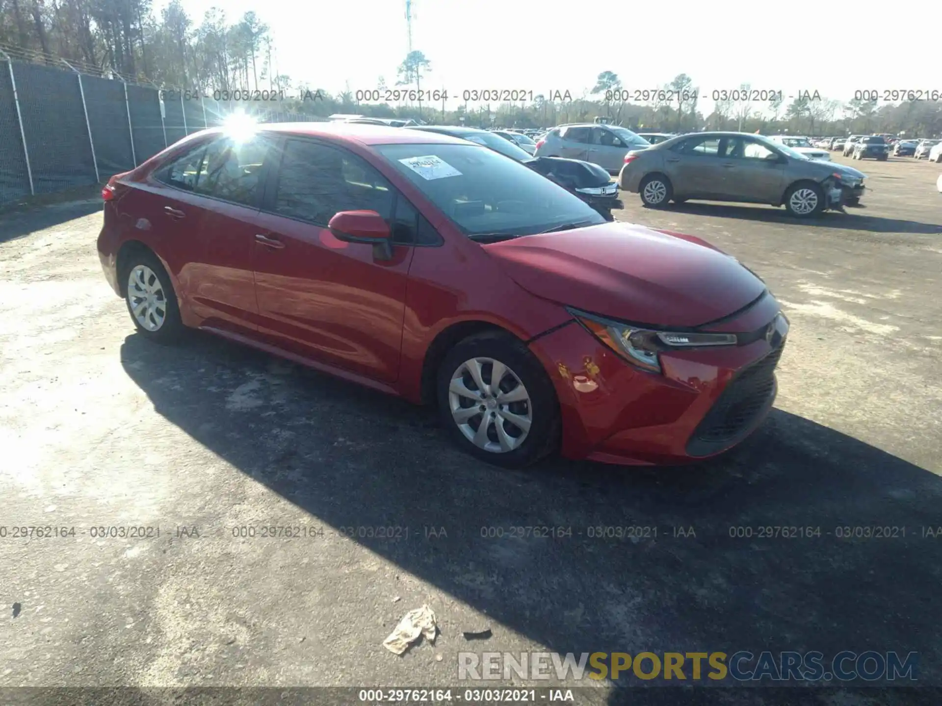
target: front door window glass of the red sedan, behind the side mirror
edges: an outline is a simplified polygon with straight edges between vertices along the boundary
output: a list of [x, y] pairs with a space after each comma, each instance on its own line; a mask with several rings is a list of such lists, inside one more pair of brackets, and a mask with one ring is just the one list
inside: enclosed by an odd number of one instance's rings
[[355, 154], [308, 140], [284, 143], [275, 213], [319, 226], [340, 211], [376, 211], [389, 221], [393, 201], [389, 182]]

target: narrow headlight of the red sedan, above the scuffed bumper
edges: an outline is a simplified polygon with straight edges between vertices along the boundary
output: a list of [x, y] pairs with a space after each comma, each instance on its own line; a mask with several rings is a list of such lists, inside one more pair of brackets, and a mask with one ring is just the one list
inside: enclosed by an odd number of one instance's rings
[[664, 331], [643, 329], [593, 314], [569, 309], [577, 321], [599, 341], [608, 345], [628, 362], [651, 373], [660, 373], [659, 354], [665, 350], [696, 348], [707, 345], [736, 345], [734, 333]]

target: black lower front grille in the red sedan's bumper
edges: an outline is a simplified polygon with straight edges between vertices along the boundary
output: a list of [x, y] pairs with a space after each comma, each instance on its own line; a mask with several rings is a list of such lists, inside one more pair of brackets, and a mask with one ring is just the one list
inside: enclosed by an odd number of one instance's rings
[[707, 456], [748, 434], [775, 399], [775, 366], [784, 345], [739, 372], [690, 437], [690, 456]]

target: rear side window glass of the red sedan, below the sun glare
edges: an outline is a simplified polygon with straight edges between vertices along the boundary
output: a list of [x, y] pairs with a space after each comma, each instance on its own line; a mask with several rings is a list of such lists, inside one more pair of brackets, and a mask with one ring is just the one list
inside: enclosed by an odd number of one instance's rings
[[187, 152], [156, 178], [203, 196], [256, 206], [267, 151], [268, 142], [261, 136], [244, 142], [222, 137]]

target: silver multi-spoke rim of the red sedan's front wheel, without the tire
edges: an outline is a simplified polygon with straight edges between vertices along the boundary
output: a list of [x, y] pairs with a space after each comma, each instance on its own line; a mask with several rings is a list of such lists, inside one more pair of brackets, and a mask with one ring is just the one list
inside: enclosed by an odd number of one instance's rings
[[519, 448], [533, 424], [527, 387], [493, 358], [472, 358], [458, 366], [448, 384], [448, 407], [464, 437], [495, 454]]

